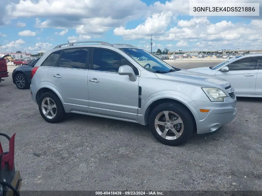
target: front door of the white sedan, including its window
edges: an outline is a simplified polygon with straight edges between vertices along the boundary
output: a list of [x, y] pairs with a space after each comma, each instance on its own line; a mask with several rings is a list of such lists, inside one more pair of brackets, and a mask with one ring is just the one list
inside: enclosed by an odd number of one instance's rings
[[228, 72], [217, 71], [215, 76], [230, 82], [235, 94], [255, 94], [258, 57], [246, 57], [230, 63]]

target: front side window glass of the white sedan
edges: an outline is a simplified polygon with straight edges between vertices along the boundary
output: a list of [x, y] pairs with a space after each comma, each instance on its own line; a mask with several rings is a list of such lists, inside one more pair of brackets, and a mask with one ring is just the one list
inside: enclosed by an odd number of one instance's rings
[[258, 57], [247, 57], [243, 59], [239, 59], [233, 63], [228, 65], [229, 71], [236, 70], [252, 70], [255, 69]]

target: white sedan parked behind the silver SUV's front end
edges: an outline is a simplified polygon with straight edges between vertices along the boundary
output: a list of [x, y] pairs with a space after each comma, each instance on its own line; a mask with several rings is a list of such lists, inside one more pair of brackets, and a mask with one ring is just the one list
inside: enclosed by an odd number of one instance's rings
[[[230, 82], [237, 97], [262, 97], [262, 54], [240, 55], [214, 67], [189, 69]], [[261, 63], [260, 63], [261, 61]]]

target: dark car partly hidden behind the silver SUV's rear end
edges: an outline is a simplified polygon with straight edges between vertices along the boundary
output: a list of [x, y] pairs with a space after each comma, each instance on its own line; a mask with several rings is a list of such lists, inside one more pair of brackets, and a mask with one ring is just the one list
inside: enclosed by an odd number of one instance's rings
[[18, 89], [28, 89], [31, 83], [31, 71], [40, 58], [32, 61], [27, 66], [19, 66], [12, 73], [13, 83]]

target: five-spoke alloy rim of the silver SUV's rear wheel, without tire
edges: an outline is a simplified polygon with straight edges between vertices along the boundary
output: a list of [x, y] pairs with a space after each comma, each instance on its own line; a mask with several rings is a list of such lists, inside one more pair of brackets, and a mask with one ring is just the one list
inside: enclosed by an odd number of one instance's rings
[[56, 103], [53, 99], [46, 97], [42, 100], [42, 112], [43, 114], [49, 118], [53, 119], [56, 116]]

